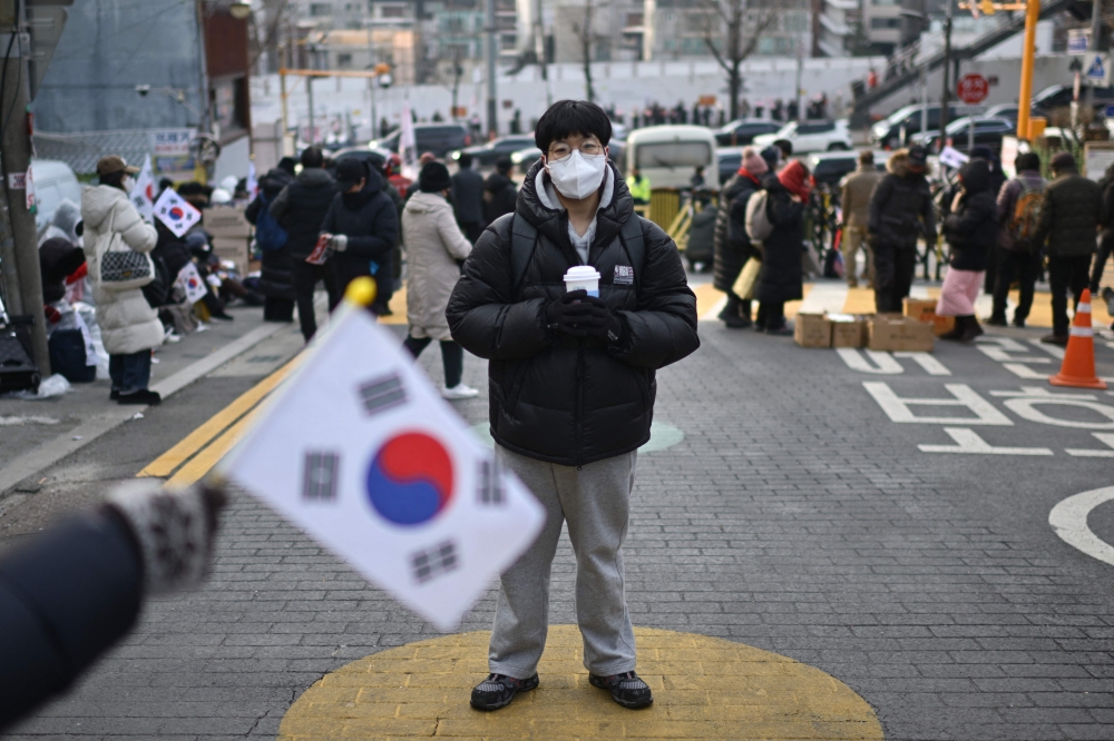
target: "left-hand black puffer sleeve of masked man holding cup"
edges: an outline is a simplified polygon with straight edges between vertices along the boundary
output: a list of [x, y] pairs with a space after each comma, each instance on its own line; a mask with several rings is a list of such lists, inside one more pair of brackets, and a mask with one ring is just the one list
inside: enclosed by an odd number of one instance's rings
[[514, 300], [511, 218], [500, 217], [476, 240], [444, 310], [452, 338], [488, 359], [531, 357], [553, 342], [545, 326], [545, 299]]

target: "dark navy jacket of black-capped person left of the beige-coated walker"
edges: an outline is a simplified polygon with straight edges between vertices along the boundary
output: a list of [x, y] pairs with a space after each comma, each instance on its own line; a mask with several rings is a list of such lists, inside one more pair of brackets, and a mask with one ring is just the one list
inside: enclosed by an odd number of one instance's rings
[[339, 192], [333, 197], [321, 230], [348, 237], [344, 251], [333, 253], [329, 258], [341, 290], [353, 278], [371, 275], [374, 261], [378, 266], [375, 295], [390, 297], [391, 253], [399, 238], [399, 215], [394, 201], [383, 191], [383, 177], [379, 171], [368, 171], [368, 185], [360, 192]]

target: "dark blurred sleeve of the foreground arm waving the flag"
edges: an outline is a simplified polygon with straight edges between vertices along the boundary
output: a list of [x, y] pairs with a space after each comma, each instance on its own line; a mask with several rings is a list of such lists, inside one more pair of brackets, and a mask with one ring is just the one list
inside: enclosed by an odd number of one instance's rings
[[65, 691], [131, 629], [143, 583], [131, 537], [102, 508], [0, 559], [0, 732]]

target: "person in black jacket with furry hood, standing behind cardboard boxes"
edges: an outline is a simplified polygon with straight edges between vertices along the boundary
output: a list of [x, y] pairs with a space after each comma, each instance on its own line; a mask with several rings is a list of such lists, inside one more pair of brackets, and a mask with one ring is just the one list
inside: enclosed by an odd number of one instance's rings
[[870, 197], [870, 249], [874, 253], [874, 306], [879, 314], [901, 312], [917, 269], [917, 237], [936, 244], [936, 211], [925, 178], [928, 151], [899, 149]]

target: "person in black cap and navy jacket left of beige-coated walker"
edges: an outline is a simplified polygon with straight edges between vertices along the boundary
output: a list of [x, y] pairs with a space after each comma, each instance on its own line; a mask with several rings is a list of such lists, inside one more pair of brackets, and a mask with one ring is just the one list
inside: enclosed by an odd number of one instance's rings
[[360, 276], [375, 277], [377, 315], [385, 306], [380, 296], [391, 295], [391, 251], [399, 236], [399, 217], [394, 202], [383, 192], [383, 178], [358, 159], [342, 159], [336, 165], [336, 187], [333, 205], [321, 225], [322, 234], [332, 235], [333, 269], [336, 290], [344, 289]]

